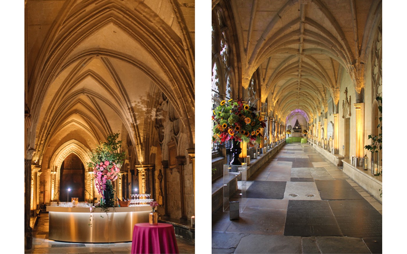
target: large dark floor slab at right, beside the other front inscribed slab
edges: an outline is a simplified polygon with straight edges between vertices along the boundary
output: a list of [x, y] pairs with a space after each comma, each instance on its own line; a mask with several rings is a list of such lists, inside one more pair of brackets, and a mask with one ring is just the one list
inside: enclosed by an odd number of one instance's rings
[[367, 200], [332, 200], [328, 203], [344, 236], [382, 237], [382, 215]]

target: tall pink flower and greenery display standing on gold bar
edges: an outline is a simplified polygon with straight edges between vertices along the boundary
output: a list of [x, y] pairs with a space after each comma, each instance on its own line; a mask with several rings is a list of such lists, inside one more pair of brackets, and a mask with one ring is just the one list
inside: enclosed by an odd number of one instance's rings
[[102, 195], [102, 206], [114, 206], [114, 189], [112, 182], [118, 178], [120, 165], [125, 159], [125, 152], [119, 152], [122, 141], [116, 141], [119, 133], [107, 136], [107, 142], [98, 145], [90, 154], [89, 167], [93, 167], [95, 184], [98, 193]]

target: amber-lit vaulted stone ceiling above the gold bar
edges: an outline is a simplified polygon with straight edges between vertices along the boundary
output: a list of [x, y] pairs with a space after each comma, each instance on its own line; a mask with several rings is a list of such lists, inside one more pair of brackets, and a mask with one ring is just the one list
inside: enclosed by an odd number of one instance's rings
[[94, 148], [122, 128], [142, 161], [161, 93], [193, 147], [194, 0], [26, 0], [25, 7], [33, 161], [78, 141]]

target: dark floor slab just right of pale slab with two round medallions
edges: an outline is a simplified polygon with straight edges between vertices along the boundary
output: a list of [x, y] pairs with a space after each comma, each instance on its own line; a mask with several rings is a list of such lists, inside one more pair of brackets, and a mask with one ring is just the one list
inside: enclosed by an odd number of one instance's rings
[[363, 199], [346, 180], [315, 180], [322, 200]]

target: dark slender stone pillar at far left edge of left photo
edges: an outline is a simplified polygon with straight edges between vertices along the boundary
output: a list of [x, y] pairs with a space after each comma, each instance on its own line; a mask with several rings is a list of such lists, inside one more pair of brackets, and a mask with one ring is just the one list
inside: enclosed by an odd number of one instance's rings
[[24, 248], [29, 250], [33, 247], [33, 229], [30, 226], [31, 214], [31, 159], [34, 149], [29, 149], [24, 159]]

